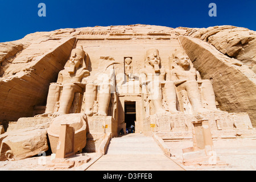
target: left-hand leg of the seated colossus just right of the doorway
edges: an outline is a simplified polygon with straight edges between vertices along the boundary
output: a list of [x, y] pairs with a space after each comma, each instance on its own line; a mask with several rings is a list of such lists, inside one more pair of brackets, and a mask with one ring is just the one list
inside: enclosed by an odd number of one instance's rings
[[147, 85], [150, 100], [154, 105], [155, 114], [170, 114], [163, 108], [162, 89], [159, 81], [151, 81]]

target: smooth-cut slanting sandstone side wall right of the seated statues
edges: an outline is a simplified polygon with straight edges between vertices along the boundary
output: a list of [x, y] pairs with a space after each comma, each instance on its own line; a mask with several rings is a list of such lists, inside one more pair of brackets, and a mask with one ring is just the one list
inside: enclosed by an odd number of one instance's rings
[[212, 45], [189, 36], [179, 38], [181, 45], [204, 79], [213, 84], [220, 108], [228, 112], [249, 113], [256, 126], [256, 75], [246, 65], [220, 53]]

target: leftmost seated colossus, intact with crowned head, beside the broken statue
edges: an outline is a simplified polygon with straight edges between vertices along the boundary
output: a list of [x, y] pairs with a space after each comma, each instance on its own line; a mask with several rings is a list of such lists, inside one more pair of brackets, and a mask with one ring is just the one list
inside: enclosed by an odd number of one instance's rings
[[84, 93], [85, 83], [82, 79], [90, 75], [86, 69], [85, 55], [85, 51], [80, 48], [72, 50], [67, 64], [59, 72], [57, 82], [49, 86], [45, 113], [36, 117], [69, 114], [75, 93]]

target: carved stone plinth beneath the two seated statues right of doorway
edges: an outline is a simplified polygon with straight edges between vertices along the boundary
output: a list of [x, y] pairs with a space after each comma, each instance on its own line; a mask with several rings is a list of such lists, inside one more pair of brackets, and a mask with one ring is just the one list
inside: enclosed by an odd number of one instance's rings
[[[154, 114], [144, 120], [144, 127], [156, 124], [155, 132], [165, 139], [183, 139], [192, 137], [192, 122], [203, 119], [208, 121], [213, 138], [236, 138], [252, 136], [255, 130], [250, 129], [247, 113], [209, 113], [191, 114]], [[151, 129], [152, 130], [152, 129]]]

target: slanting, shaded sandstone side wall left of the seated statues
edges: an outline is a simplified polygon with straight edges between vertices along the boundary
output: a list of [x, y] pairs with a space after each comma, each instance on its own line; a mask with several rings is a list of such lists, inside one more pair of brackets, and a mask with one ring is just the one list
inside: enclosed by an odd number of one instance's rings
[[9, 59], [9, 64], [1, 67], [4, 68], [0, 78], [1, 123], [32, 116], [34, 106], [45, 105], [49, 83], [56, 81], [75, 40], [44, 38], [26, 48], [22, 44], [6, 43], [7, 50], [1, 59], [2, 63]]

